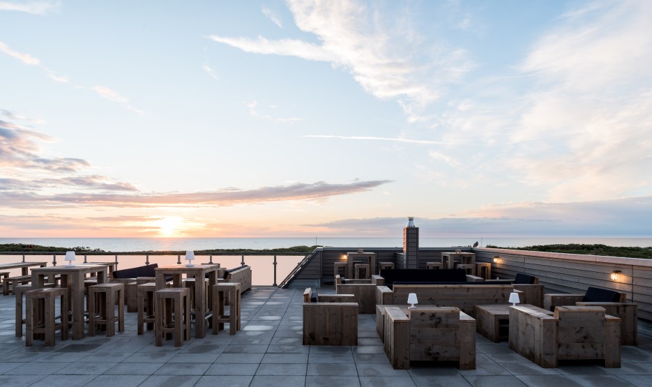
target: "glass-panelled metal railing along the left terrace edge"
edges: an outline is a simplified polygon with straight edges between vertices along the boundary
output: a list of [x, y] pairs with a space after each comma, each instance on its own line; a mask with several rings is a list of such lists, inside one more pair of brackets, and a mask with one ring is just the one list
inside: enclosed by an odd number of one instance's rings
[[[305, 257], [311, 255], [312, 253], [305, 253], [305, 252], [222, 252], [222, 251], [214, 251], [214, 252], [195, 252], [195, 257], [197, 261], [200, 261], [202, 257], [204, 259], [208, 259], [207, 263], [208, 264], [213, 264], [217, 263], [213, 261], [214, 257], [240, 257], [240, 262], [239, 264], [241, 265], [248, 265], [251, 266], [252, 271], [259, 270], [262, 272], [267, 273], [267, 271], [271, 271], [273, 273], [273, 279], [272, 279], [272, 286], [278, 286], [277, 284], [277, 278], [278, 275], [282, 275], [281, 278], [285, 278], [287, 273], [291, 273], [291, 271], [294, 270], [296, 264], [291, 266], [290, 268], [287, 268], [287, 270], [283, 271], [282, 273], [278, 273], [278, 266], [280, 266], [280, 263], [278, 261], [278, 257]], [[8, 255], [17, 255], [17, 256], [22, 256], [22, 261], [24, 262], [26, 257], [30, 256], [39, 256], [39, 257], [52, 257], [52, 265], [56, 266], [56, 264], [59, 263], [59, 261], [63, 261], [63, 257], [66, 256], [66, 252], [36, 252], [36, 251], [29, 251], [29, 252], [0, 252], [0, 259], [2, 256], [8, 256]], [[77, 260], [82, 261], [83, 257], [83, 262], [84, 264], [93, 262], [93, 261], [98, 261], [98, 257], [112, 257], [112, 261], [115, 265], [115, 269], [118, 269], [119, 264], [122, 264], [122, 266], [126, 266], [124, 268], [131, 268], [135, 266], [141, 266], [141, 264], [138, 261], [130, 259], [128, 263], [126, 260], [123, 259], [122, 263], [120, 262], [120, 257], [143, 257], [144, 261], [142, 261], [142, 264], [149, 265], [151, 263], [154, 263], [153, 261], [156, 261], [156, 259], [150, 259], [150, 257], [157, 257], [157, 256], [165, 256], [165, 257], [174, 257], [176, 256], [176, 264], [181, 264], [181, 261], [183, 260], [183, 256], [185, 256], [185, 251], [149, 251], [149, 252], [76, 252]], [[262, 259], [252, 259], [252, 257], [272, 257], [271, 263], [267, 264], [267, 260], [262, 260]], [[89, 261], [89, 258], [91, 261]], [[245, 259], [246, 258], [246, 259]], [[57, 261], [59, 259], [59, 261]], [[302, 259], [302, 260], [303, 260]], [[169, 261], [169, 259], [168, 259]], [[166, 263], [169, 264], [169, 263]], [[271, 267], [269, 267], [271, 266]], [[287, 265], [282, 265], [282, 266], [287, 266]], [[268, 283], [258, 283], [259, 285], [268, 285]]]

